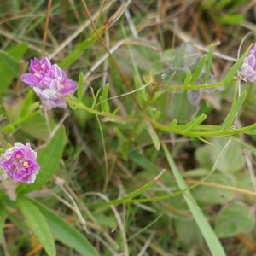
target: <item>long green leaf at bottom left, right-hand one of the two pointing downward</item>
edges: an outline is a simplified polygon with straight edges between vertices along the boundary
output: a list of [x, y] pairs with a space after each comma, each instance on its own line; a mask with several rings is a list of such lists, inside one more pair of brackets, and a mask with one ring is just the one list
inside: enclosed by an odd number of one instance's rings
[[76, 250], [80, 255], [97, 256], [96, 248], [93, 247], [87, 238], [75, 230], [70, 224], [67, 224], [59, 215], [48, 207], [45, 207], [36, 200], [30, 200], [30, 203], [35, 205], [41, 214], [44, 215], [46, 222], [49, 224], [49, 229], [55, 239], [63, 242], [68, 247]]

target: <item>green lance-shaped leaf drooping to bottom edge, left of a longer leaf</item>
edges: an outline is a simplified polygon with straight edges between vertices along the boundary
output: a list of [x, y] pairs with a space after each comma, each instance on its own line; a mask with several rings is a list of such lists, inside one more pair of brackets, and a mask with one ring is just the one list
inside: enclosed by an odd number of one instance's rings
[[44, 247], [45, 252], [49, 256], [56, 255], [55, 241], [49, 230], [49, 226], [44, 218], [44, 215], [38, 210], [38, 207], [23, 196], [18, 197], [17, 206], [26, 219], [26, 224], [38, 237], [38, 240]]

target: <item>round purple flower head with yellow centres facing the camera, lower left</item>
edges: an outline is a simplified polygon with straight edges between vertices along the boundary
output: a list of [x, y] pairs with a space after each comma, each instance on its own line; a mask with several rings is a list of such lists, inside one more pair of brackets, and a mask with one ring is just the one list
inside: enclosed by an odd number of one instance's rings
[[6, 150], [0, 157], [0, 167], [15, 182], [33, 183], [40, 169], [37, 163], [37, 153], [30, 143], [15, 146]]

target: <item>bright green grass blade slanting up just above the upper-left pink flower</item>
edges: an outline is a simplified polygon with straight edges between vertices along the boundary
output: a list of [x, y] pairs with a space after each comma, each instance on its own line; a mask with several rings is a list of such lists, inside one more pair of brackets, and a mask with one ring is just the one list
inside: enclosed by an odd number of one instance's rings
[[[98, 33], [100, 34], [100, 36], [102, 36], [102, 34], [104, 33], [102, 27], [98, 30]], [[69, 55], [67, 55], [63, 61], [59, 63], [59, 66], [61, 68], [67, 68], [70, 65], [72, 65], [73, 62], [79, 59], [79, 57], [84, 53], [84, 50], [89, 49], [90, 45], [94, 44], [97, 39], [98, 37], [96, 33], [93, 32], [90, 38], [86, 38], [81, 44], [79, 44], [75, 49], [73, 49], [73, 51]]]

